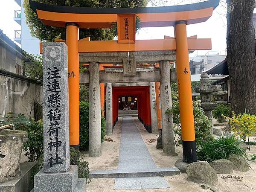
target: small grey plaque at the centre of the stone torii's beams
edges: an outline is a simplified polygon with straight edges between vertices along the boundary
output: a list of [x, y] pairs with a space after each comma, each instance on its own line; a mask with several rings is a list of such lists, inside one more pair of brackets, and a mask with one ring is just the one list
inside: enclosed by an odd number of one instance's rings
[[123, 58], [123, 75], [124, 76], [136, 76], [136, 58], [125, 57]]

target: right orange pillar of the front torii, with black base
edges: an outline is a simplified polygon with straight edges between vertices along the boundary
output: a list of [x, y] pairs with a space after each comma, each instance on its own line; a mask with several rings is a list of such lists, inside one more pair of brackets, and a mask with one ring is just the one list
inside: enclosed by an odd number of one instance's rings
[[186, 21], [176, 22], [175, 38], [183, 161], [192, 163], [196, 161], [196, 148]]

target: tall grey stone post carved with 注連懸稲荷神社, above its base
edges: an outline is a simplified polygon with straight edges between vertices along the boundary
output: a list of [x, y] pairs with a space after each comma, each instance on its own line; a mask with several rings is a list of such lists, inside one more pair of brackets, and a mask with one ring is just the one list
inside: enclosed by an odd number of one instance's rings
[[69, 160], [67, 45], [43, 43], [44, 172], [66, 172]]

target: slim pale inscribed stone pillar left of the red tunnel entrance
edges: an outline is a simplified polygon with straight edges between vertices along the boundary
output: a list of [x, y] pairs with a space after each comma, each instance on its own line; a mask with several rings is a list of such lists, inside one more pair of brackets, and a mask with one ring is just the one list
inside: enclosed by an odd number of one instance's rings
[[106, 87], [106, 134], [113, 133], [113, 117], [112, 117], [112, 84], [107, 83]]

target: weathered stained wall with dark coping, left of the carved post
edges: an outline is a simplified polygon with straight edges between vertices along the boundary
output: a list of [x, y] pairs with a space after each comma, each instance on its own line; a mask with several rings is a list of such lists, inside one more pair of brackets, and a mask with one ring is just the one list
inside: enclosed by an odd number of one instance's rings
[[40, 105], [42, 105], [42, 86], [38, 81], [0, 70], [1, 117], [12, 111], [38, 119], [38, 116], [41, 116]]

